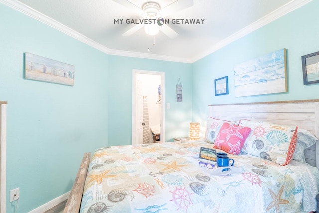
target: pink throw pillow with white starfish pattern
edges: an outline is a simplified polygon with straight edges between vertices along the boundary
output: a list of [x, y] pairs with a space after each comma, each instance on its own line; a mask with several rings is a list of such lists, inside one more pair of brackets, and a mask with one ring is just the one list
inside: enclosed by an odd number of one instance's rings
[[216, 137], [214, 148], [238, 155], [248, 137], [251, 128], [224, 123]]

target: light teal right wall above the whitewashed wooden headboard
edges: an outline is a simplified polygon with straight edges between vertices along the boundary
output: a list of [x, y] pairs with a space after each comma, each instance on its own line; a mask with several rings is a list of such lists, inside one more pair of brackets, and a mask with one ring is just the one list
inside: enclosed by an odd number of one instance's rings
[[[259, 28], [247, 36], [193, 63], [193, 120], [201, 122], [204, 134], [209, 104], [319, 98], [319, 84], [303, 85], [301, 56], [319, 51], [319, 1], [305, 6]], [[288, 92], [235, 97], [236, 64], [287, 49]], [[214, 79], [228, 76], [229, 95], [215, 96]]]

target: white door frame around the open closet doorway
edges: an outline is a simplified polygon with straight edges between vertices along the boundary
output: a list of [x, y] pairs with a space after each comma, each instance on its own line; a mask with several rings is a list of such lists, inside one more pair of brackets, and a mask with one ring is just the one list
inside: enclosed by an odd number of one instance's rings
[[147, 75], [160, 75], [160, 102], [161, 102], [161, 118], [160, 118], [160, 142], [165, 142], [165, 72], [158, 71], [147, 71], [147, 70], [132, 70], [132, 144], [135, 144], [135, 88], [136, 88], [136, 75], [137, 74], [147, 74]]

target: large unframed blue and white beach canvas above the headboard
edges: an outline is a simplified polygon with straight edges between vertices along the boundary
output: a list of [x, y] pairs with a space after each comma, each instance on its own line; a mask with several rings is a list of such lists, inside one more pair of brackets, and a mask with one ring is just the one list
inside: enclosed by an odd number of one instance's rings
[[287, 92], [286, 49], [235, 65], [234, 81], [236, 97]]

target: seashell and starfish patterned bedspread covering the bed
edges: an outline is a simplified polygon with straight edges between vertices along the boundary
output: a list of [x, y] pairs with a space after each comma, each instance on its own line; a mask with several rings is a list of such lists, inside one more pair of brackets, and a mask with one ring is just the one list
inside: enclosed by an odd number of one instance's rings
[[[280, 143], [276, 132], [269, 137]], [[228, 156], [242, 173], [210, 175], [193, 158], [200, 147], [212, 148], [212, 144], [186, 141], [98, 149], [89, 165], [80, 213], [316, 210], [317, 168], [294, 160], [280, 166], [267, 158], [240, 153]]]

